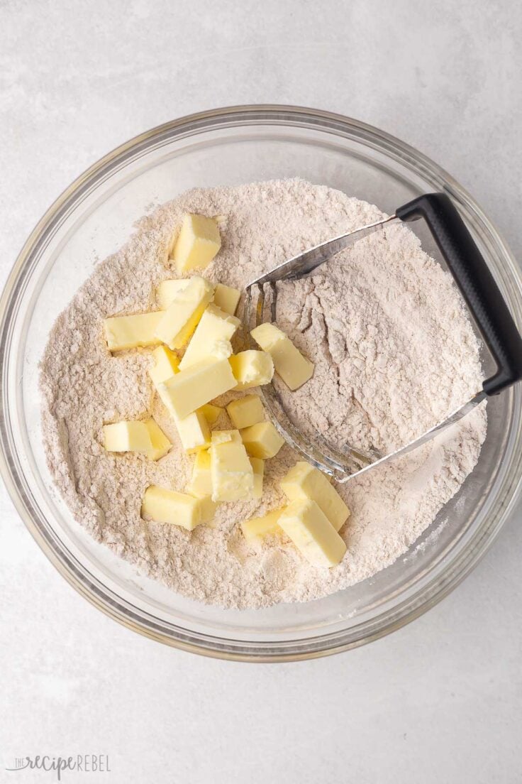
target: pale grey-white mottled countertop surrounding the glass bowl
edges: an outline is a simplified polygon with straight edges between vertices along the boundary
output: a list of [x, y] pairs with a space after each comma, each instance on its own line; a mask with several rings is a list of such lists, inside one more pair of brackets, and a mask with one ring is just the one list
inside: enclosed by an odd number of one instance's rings
[[[88, 165], [232, 103], [349, 114], [467, 187], [522, 258], [520, 5], [386, 0], [0, 3], [0, 282]], [[522, 780], [520, 511], [469, 579], [365, 648], [219, 662], [118, 626], [65, 583], [0, 488], [0, 781], [26, 754], [104, 753], [64, 782]]]

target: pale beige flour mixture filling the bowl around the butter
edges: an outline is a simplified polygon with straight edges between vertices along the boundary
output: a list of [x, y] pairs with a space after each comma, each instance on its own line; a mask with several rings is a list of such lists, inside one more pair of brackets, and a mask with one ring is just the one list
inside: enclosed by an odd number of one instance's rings
[[[204, 274], [238, 288], [309, 245], [382, 216], [340, 191], [285, 180], [189, 191], [143, 218], [128, 245], [99, 263], [49, 336], [41, 391], [52, 477], [95, 539], [193, 599], [263, 607], [357, 583], [405, 554], [459, 490], [480, 454], [485, 409], [409, 456], [337, 485], [352, 514], [341, 530], [347, 555], [332, 569], [311, 567], [290, 542], [272, 539], [252, 548], [241, 535], [239, 521], [283, 505], [278, 483], [298, 459], [288, 446], [266, 463], [261, 503], [219, 505], [215, 528], [190, 533], [142, 521], [147, 485], [185, 489], [193, 459], [153, 394], [150, 351], [111, 356], [102, 320], [158, 307], [154, 290], [176, 277], [167, 257], [187, 211], [225, 216], [221, 251]], [[480, 387], [479, 347], [452, 280], [405, 227], [366, 238], [314, 278], [282, 284], [277, 314], [279, 326], [315, 362], [315, 375], [301, 390], [290, 393], [279, 384], [287, 411], [303, 430], [337, 448], [349, 443], [388, 452]], [[164, 459], [105, 452], [104, 423], [148, 412], [174, 445]], [[231, 423], [222, 415], [216, 426]]]

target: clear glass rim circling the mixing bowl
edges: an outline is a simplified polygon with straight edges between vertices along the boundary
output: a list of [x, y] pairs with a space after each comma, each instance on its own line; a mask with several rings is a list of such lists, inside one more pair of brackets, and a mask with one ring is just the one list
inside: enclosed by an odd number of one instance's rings
[[[85, 579], [85, 575], [81, 573], [81, 570], [77, 568], [77, 564], [74, 563], [74, 559], [64, 553], [63, 549], [56, 547], [49, 532], [43, 530], [35, 521], [34, 516], [31, 515], [31, 500], [27, 498], [20, 483], [16, 481], [18, 471], [10, 447], [8, 417], [5, 416], [5, 411], [7, 410], [5, 347], [9, 344], [9, 327], [13, 314], [13, 301], [16, 299], [16, 292], [20, 291], [20, 288], [23, 286], [24, 278], [31, 270], [31, 260], [34, 260], [34, 256], [38, 249], [41, 248], [41, 245], [45, 244], [45, 237], [49, 236], [49, 232], [56, 229], [59, 223], [65, 220], [86, 191], [94, 188], [106, 174], [113, 172], [117, 165], [128, 162], [130, 158], [139, 154], [140, 151], [147, 149], [152, 140], [160, 141], [164, 137], [170, 138], [173, 132], [176, 131], [183, 136], [194, 135], [223, 123], [229, 126], [238, 126], [242, 124], [261, 125], [264, 122], [271, 125], [287, 125], [291, 122], [293, 125], [301, 125], [301, 127], [309, 128], [315, 126], [325, 132], [335, 132], [337, 129], [340, 132], [344, 131], [344, 135], [349, 131], [352, 136], [356, 135], [364, 138], [366, 143], [369, 140], [373, 140], [375, 147], [381, 151], [391, 152], [393, 150], [394, 157], [400, 157], [403, 162], [415, 163], [416, 170], [423, 169], [424, 172], [429, 172], [432, 179], [435, 174], [441, 180], [444, 190], [457, 205], [466, 209], [467, 212], [473, 213], [476, 220], [488, 231], [488, 234], [491, 235], [499, 252], [502, 254], [509, 276], [515, 278], [519, 288], [522, 289], [520, 268], [515, 262], [509, 247], [470, 194], [448, 172], [441, 169], [430, 158], [427, 158], [427, 156], [409, 144], [375, 128], [373, 125], [360, 122], [354, 118], [348, 118], [342, 114], [284, 104], [249, 104], [221, 107], [189, 114], [162, 125], [157, 125], [115, 147], [70, 183], [69, 187], [56, 198], [31, 231], [5, 282], [2, 296], [0, 296], [0, 376], [2, 378], [0, 474], [13, 500], [16, 511], [20, 514], [23, 523], [31, 532], [38, 546], [41, 547], [41, 550], [44, 551], [60, 574], [67, 579], [67, 582], [106, 615], [117, 620], [117, 622], [120, 622], [128, 629], [139, 632], [150, 639], [188, 652], [236, 661], [286, 662], [332, 655], [376, 640], [401, 628], [401, 626], [405, 626], [405, 624], [416, 619], [419, 615], [423, 615], [424, 612], [427, 612], [427, 610], [446, 597], [448, 593], [451, 593], [470, 574], [478, 561], [481, 560], [481, 557], [487, 552], [496, 535], [498, 535], [500, 528], [502, 528], [502, 524], [504, 524], [513, 510], [513, 506], [517, 503], [522, 489], [522, 471], [520, 471], [522, 456], [520, 456], [520, 449], [517, 466], [519, 470], [512, 471], [510, 485], [505, 493], [505, 501], [502, 508], [497, 512], [495, 519], [484, 521], [486, 524], [484, 524], [481, 531], [474, 533], [470, 543], [453, 559], [442, 575], [432, 577], [426, 585], [421, 586], [412, 596], [395, 604], [391, 619], [389, 617], [390, 611], [385, 610], [369, 621], [363, 622], [362, 626], [365, 626], [366, 631], [362, 636], [354, 638], [354, 629], [358, 627], [353, 627], [350, 630], [352, 638], [349, 640], [341, 639], [343, 634], [346, 635], [346, 630], [319, 634], [318, 637], [308, 637], [305, 641], [268, 643], [232, 641], [195, 632], [190, 633], [193, 635], [191, 639], [190, 634], [187, 635], [186, 633], [180, 633], [178, 637], [172, 637], [171, 634], [165, 632], [159, 622], [154, 622], [152, 616], [150, 616], [148, 622], [144, 622], [143, 614], [139, 616], [135, 612], [131, 612], [125, 606], [125, 601], [121, 597], [117, 597], [117, 594], [112, 593], [107, 586], [103, 586], [102, 590], [99, 587], [102, 586], [102, 583], [97, 585], [92, 580]], [[112, 593], [112, 596], [109, 593]]]

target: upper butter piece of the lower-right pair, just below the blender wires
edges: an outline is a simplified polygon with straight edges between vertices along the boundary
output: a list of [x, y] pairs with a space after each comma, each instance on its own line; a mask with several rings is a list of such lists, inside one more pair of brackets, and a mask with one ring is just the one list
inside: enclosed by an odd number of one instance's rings
[[315, 501], [336, 531], [347, 521], [350, 510], [328, 477], [318, 468], [300, 461], [281, 481], [281, 489], [290, 501], [310, 499]]

